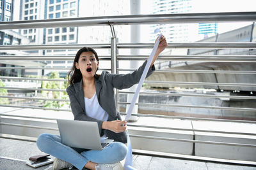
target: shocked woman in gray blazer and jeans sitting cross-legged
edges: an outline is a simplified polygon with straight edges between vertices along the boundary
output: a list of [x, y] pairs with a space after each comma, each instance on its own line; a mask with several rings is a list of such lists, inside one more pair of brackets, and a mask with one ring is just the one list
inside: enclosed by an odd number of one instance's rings
[[[147, 76], [155, 70], [154, 62], [166, 46], [166, 39], [161, 36]], [[82, 150], [63, 145], [58, 135], [41, 134], [36, 143], [42, 152], [56, 157], [52, 169], [72, 166], [77, 169], [122, 169], [120, 161], [127, 153], [124, 145], [127, 143], [126, 122], [121, 120], [116, 110], [113, 88], [127, 89], [138, 83], [146, 64], [147, 60], [131, 74], [110, 74], [103, 71], [98, 75], [99, 57], [95, 50], [84, 47], [77, 52], [73, 67], [68, 73], [68, 77], [70, 74], [72, 76], [67, 88], [74, 120], [98, 122], [100, 136], [114, 139], [114, 142], [103, 150]]]

